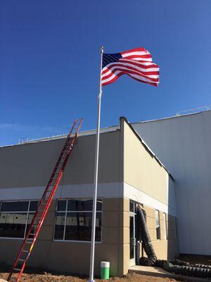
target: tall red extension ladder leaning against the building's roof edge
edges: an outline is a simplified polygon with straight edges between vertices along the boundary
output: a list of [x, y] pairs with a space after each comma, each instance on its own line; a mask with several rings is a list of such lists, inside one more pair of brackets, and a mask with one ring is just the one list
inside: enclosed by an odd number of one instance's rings
[[[75, 119], [72, 128], [70, 129], [70, 133], [68, 134], [67, 140], [62, 149], [62, 152], [60, 153], [56, 166], [53, 169], [53, 173], [51, 174], [49, 183], [46, 185], [44, 194], [42, 195], [41, 200], [39, 202], [37, 212], [35, 212], [34, 214], [32, 223], [30, 224], [30, 228], [28, 229], [27, 235], [25, 236], [25, 239], [23, 241], [23, 245], [20, 247], [18, 256], [15, 259], [13, 268], [11, 269], [11, 272], [8, 276], [8, 281], [18, 282], [20, 276], [23, 274], [27, 259], [30, 257], [32, 248], [34, 247], [34, 243], [37, 239], [37, 236], [39, 235], [41, 225], [46, 217], [47, 212], [49, 211], [49, 207], [53, 200], [53, 195], [55, 194], [58, 184], [60, 183], [60, 179], [63, 176], [65, 166], [72, 152], [75, 140], [77, 139], [79, 128], [82, 125], [82, 121], [82, 118], [79, 121]], [[73, 137], [71, 137], [71, 135], [73, 135]]]

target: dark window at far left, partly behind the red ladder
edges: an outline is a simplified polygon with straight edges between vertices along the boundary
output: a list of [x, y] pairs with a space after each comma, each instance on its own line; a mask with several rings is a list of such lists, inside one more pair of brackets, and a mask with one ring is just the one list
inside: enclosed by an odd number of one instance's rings
[[25, 238], [38, 201], [1, 202], [0, 237]]

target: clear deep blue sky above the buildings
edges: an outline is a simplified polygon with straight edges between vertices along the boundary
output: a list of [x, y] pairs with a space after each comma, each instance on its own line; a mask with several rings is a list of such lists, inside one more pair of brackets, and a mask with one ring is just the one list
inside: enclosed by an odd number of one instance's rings
[[0, 145], [96, 128], [99, 47], [145, 47], [158, 88], [123, 76], [103, 87], [101, 126], [211, 104], [210, 0], [0, 1]]

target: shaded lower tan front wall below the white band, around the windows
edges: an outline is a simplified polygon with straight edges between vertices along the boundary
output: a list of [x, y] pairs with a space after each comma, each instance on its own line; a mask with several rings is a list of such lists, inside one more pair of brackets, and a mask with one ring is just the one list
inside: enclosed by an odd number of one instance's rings
[[[125, 244], [129, 243], [129, 227], [124, 228], [123, 226], [123, 222], [126, 220], [123, 218], [122, 212], [123, 205], [126, 202], [121, 200], [118, 210], [107, 211], [107, 207], [108, 209], [116, 207], [115, 199], [107, 200], [110, 203], [103, 205], [102, 243], [96, 243], [95, 275], [99, 275], [100, 262], [108, 260], [111, 275], [122, 276], [127, 273], [124, 269], [124, 257], [128, 256], [129, 258], [128, 246]], [[56, 201], [53, 201], [52, 207], [55, 208], [55, 204]], [[54, 212], [49, 212], [48, 218], [41, 228], [41, 233], [39, 233], [39, 238], [34, 245], [28, 265], [45, 270], [89, 274], [90, 243], [53, 241], [54, 223], [51, 222], [51, 219], [53, 219]], [[129, 213], [124, 212], [125, 214]], [[1, 239], [0, 262], [12, 264], [22, 242], [23, 240]], [[125, 250], [124, 246], [127, 246]]]

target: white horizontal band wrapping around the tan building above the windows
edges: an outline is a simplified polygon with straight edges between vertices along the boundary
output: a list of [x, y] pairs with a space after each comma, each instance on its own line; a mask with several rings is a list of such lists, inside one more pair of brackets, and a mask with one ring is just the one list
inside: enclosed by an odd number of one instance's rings
[[[44, 186], [3, 188], [0, 189], [0, 200], [37, 200], [44, 192]], [[93, 184], [59, 185], [54, 199], [65, 198], [90, 198], [93, 197]], [[154, 199], [146, 193], [134, 188], [127, 183], [99, 183], [98, 197], [128, 198], [148, 207], [153, 207], [167, 214], [177, 216], [176, 209]]]

